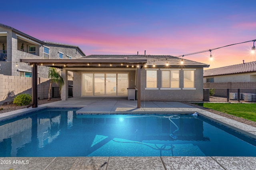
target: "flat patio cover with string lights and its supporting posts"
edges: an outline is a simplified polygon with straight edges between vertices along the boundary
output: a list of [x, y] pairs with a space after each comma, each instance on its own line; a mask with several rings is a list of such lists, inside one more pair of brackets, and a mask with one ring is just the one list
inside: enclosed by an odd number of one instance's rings
[[32, 107], [38, 107], [37, 101], [37, 66], [55, 68], [131, 68], [137, 66], [138, 95], [137, 107], [140, 108], [140, 69], [147, 59], [20, 59], [32, 67]]

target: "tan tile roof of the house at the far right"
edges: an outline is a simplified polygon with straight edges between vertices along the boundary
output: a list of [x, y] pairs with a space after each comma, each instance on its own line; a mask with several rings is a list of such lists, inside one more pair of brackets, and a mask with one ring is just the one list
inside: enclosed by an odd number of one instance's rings
[[204, 70], [204, 77], [256, 72], [256, 61]]

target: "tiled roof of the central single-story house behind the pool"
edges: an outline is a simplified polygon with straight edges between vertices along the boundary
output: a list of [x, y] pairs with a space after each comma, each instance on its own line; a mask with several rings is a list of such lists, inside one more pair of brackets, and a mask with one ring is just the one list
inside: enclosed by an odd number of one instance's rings
[[[170, 55], [88, 55], [80, 59], [147, 59], [148, 65], [165, 65], [166, 62], [170, 66], [180, 66], [181, 58], [173, 57]], [[167, 59], [167, 60], [166, 60]], [[183, 59], [184, 66], [196, 66], [196, 67], [209, 67], [208, 64], [199, 63], [196, 61]]]

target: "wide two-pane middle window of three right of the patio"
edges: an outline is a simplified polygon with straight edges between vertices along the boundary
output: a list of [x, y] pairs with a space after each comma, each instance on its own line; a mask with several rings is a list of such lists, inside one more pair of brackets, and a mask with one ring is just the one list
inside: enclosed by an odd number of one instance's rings
[[162, 88], [179, 88], [180, 70], [162, 70]]

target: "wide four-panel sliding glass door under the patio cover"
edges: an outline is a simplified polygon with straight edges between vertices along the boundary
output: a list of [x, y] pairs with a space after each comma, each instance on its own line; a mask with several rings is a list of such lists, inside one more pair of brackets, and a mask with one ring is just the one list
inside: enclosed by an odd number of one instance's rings
[[82, 96], [127, 96], [128, 73], [82, 73]]

